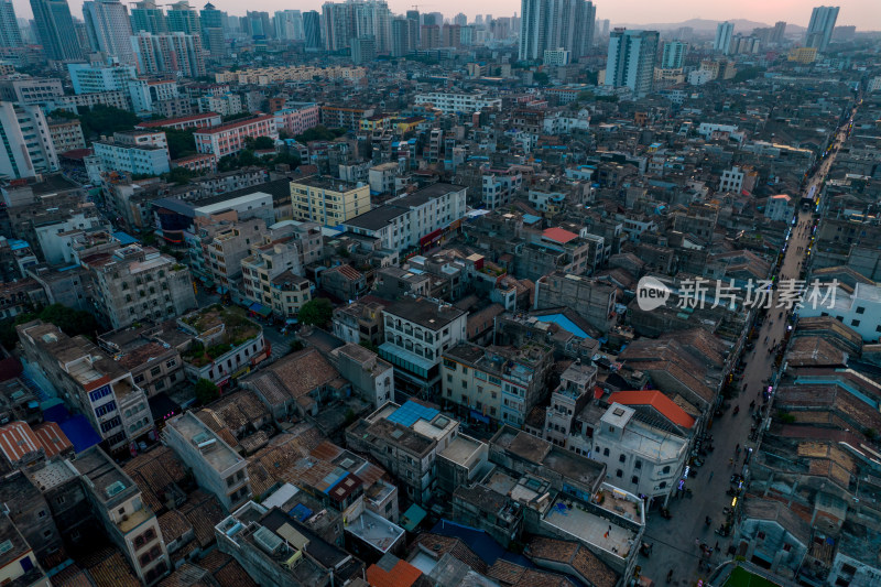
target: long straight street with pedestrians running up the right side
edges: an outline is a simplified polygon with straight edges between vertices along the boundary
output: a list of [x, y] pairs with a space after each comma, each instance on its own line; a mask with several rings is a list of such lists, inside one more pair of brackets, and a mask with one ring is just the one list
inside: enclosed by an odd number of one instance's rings
[[[842, 137], [844, 131], [838, 135], [835, 150], [806, 183], [805, 196], [811, 193], [813, 186], [816, 186], [817, 191], [820, 189], [820, 182], [828, 173]], [[813, 209], [803, 210], [801, 206], [798, 208], [797, 224], [792, 227], [777, 273], [780, 280], [802, 279], [800, 275], [802, 263], [807, 259], [813, 233]], [[639, 555], [638, 565], [642, 568], [641, 574], [653, 579], [656, 585], [666, 584], [667, 573], [671, 570], [673, 578], [666, 585], [690, 586], [698, 579], [706, 581], [711, 572], [707, 570], [706, 564], [703, 568], [698, 568], [701, 559], [707, 561], [703, 556], [701, 545], [714, 548], [709, 557], [711, 568], [731, 558], [728, 555], [731, 536], [721, 536], [716, 530], [725, 523], [724, 508], [732, 506], [733, 498], [726, 494], [730, 488], [731, 475], [743, 470], [744, 457], [749, 449], [755, 446], [755, 443], [750, 441], [751, 426], [755, 422], [750, 414], [750, 402], [755, 402], [755, 410], [762, 405], [761, 392], [766, 389], [766, 380], [771, 378], [774, 369], [775, 354], [770, 352], [770, 349], [775, 343], [783, 340], [787, 323], [786, 311], [777, 308], [776, 304], [775, 289], [771, 309], [754, 339], [755, 346], [752, 350], [744, 351], [746, 367], [739, 382], [741, 391], [729, 400], [730, 406], [724, 415], [714, 420], [713, 427], [708, 431], [714, 436], [715, 449], [707, 457], [703, 457], [706, 461], [698, 468], [697, 475], [689, 474], [686, 481], [686, 487], [692, 490], [692, 497], [671, 499], [670, 520], [665, 520], [659, 513], [649, 517], [643, 540], [653, 543], [654, 547], [649, 557]], [[733, 413], [736, 406], [739, 406], [738, 414]], [[707, 518], [711, 519], [709, 525], [706, 524]]]

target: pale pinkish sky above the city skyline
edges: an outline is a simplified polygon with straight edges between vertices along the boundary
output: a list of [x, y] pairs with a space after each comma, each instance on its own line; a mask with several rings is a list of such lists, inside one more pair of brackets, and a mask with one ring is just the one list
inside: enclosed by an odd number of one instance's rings
[[[157, 4], [171, 4], [175, 0], [157, 0]], [[208, 0], [191, 0], [191, 6], [202, 9]], [[83, 0], [68, 0], [70, 12], [75, 17], [83, 14]], [[389, 0], [389, 8], [394, 13], [404, 13], [412, 3], [418, 0]], [[12, 0], [19, 18], [32, 18], [29, 0]], [[123, 2], [128, 3], [128, 2]], [[318, 10], [324, 0], [251, 0], [242, 4], [239, 0], [211, 0], [211, 3], [230, 14], [243, 15], [246, 10]], [[811, 0], [737, 0], [736, 2], [707, 2], [706, 0], [595, 0], [597, 19], [609, 19], [616, 23], [667, 23], [682, 22], [688, 19], [747, 19], [773, 24], [783, 20], [807, 26], [811, 9], [820, 1]], [[881, 0], [838, 0], [829, 2], [838, 6], [837, 24], [853, 24], [858, 30], [881, 30]], [[247, 8], [246, 8], [247, 7]], [[445, 0], [434, 3], [418, 4], [421, 12], [443, 12], [445, 17], [454, 17], [459, 12], [468, 15], [469, 22], [475, 14], [492, 14], [511, 17], [520, 13], [516, 0], [481, 0], [479, 10], [469, 0]]]

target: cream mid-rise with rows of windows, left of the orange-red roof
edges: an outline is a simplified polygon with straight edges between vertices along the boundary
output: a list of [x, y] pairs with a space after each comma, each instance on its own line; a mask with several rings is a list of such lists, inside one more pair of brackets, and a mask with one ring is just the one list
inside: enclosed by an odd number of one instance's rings
[[444, 404], [455, 404], [469, 421], [523, 426], [547, 394], [554, 349], [532, 343], [519, 348], [460, 343], [443, 354]]

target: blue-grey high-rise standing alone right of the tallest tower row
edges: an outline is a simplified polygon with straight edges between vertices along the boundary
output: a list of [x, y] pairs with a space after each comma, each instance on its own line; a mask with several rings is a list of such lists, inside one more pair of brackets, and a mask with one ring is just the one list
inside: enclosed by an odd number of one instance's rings
[[637, 96], [650, 93], [654, 79], [657, 37], [657, 31], [612, 31], [609, 35], [605, 85], [629, 87]]

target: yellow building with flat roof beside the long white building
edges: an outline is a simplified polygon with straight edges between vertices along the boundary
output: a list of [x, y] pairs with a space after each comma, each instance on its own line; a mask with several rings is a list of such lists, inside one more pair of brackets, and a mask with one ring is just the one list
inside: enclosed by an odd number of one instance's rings
[[311, 175], [291, 182], [294, 220], [337, 226], [370, 210], [370, 186]]

